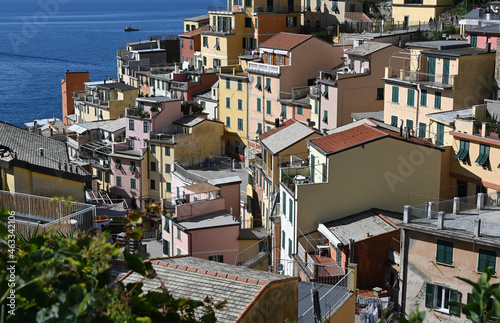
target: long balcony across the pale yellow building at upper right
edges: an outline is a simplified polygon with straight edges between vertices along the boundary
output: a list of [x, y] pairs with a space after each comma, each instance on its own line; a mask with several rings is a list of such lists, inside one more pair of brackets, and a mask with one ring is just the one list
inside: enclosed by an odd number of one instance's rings
[[408, 69], [385, 68], [385, 79], [399, 81], [406, 84], [420, 84], [421, 86], [438, 88], [441, 90], [452, 89], [456, 75], [429, 74]]

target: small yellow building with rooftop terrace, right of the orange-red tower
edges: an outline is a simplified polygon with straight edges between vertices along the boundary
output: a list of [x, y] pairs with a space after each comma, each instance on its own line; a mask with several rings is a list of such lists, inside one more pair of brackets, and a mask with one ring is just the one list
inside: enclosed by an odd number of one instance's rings
[[135, 105], [138, 89], [116, 81], [85, 83], [85, 91], [75, 92], [76, 123], [114, 120], [125, 116]]

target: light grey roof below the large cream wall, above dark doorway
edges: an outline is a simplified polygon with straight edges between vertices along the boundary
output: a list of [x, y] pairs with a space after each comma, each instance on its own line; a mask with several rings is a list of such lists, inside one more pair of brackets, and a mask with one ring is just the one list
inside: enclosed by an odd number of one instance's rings
[[403, 216], [400, 213], [372, 209], [330, 221], [324, 225], [343, 244], [348, 245], [350, 239], [359, 241], [368, 235], [374, 236], [397, 230], [402, 220]]

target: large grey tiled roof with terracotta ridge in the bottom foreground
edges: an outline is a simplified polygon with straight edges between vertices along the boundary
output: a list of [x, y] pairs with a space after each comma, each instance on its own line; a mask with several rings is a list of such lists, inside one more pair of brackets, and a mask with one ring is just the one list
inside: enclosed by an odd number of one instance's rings
[[[127, 274], [122, 282], [143, 280], [145, 291], [165, 284], [173, 297], [202, 300], [206, 296], [227, 301], [225, 311], [216, 311], [218, 322], [234, 322], [247, 307], [255, 302], [259, 292], [270, 282], [298, 280], [241, 266], [233, 266], [194, 257], [153, 258], [157, 278], [144, 279], [139, 274]], [[117, 275], [119, 270], [112, 270]], [[120, 277], [120, 276], [119, 276]]]

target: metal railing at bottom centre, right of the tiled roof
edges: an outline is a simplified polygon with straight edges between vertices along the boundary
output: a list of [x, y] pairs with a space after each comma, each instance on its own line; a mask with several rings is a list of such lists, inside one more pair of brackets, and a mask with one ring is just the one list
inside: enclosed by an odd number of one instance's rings
[[[348, 297], [351, 297], [352, 294], [349, 290], [349, 280], [352, 279], [353, 275], [354, 273], [349, 271], [319, 299], [321, 322], [332, 317], [338, 309], [338, 306], [348, 299]], [[299, 318], [299, 322], [316, 322], [314, 319], [314, 308], [312, 306]]]

